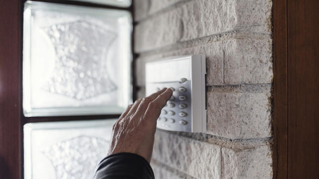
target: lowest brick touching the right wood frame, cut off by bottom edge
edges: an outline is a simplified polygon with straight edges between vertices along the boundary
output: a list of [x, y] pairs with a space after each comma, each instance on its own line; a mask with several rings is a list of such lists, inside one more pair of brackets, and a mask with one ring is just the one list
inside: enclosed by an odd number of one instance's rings
[[221, 179], [273, 179], [269, 146], [248, 150], [222, 148]]

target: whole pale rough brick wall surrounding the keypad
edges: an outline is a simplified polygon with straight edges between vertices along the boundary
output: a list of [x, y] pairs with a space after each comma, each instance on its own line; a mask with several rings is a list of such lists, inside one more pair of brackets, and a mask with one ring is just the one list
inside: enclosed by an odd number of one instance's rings
[[145, 63], [206, 55], [207, 132], [157, 130], [157, 179], [272, 179], [271, 0], [135, 0], [138, 96]]

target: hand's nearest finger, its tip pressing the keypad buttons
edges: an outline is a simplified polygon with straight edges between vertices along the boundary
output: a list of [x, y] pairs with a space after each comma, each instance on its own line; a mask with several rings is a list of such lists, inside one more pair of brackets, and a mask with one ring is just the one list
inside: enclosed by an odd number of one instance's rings
[[143, 119], [156, 121], [160, 116], [161, 109], [165, 106], [172, 93], [173, 91], [171, 89], [166, 89], [156, 99], [150, 102]]

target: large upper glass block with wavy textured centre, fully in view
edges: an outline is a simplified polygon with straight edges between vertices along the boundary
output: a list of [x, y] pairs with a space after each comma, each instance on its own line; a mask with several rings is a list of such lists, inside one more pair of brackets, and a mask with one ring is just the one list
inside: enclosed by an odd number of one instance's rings
[[26, 1], [25, 116], [118, 114], [132, 100], [125, 10]]

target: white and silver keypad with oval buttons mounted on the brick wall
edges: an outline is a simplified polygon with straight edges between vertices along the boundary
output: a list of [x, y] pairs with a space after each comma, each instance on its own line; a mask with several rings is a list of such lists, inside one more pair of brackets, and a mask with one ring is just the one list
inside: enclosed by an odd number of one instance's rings
[[173, 91], [160, 113], [157, 128], [183, 132], [206, 131], [205, 74], [204, 55], [168, 57], [145, 64], [146, 95], [162, 88]]

